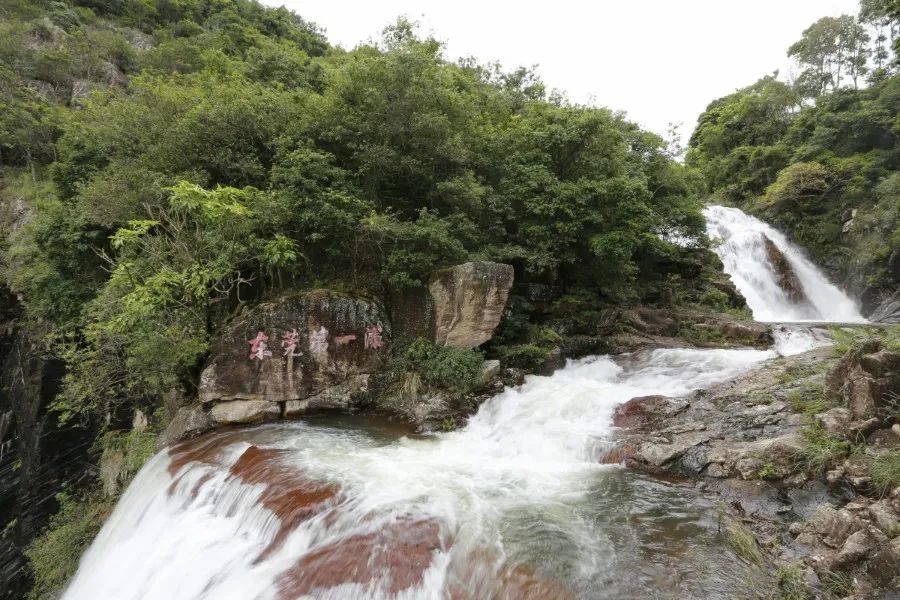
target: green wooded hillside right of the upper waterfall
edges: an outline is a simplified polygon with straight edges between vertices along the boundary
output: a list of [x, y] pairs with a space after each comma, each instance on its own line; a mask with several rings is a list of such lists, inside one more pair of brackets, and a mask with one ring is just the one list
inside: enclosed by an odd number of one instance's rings
[[892, 0], [820, 19], [788, 49], [794, 80], [710, 104], [687, 154], [716, 201], [787, 232], [866, 314], [900, 284], [898, 35]]

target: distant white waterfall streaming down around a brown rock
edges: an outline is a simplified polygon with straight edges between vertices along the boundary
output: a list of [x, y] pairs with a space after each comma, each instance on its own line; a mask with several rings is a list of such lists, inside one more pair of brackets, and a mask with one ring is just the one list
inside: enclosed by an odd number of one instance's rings
[[[856, 303], [829, 282], [803, 251], [777, 229], [736, 208], [709, 206], [704, 215], [725, 272], [747, 299], [757, 321], [865, 322]], [[791, 298], [779, 284], [766, 239], [777, 247], [796, 275], [804, 301]]]

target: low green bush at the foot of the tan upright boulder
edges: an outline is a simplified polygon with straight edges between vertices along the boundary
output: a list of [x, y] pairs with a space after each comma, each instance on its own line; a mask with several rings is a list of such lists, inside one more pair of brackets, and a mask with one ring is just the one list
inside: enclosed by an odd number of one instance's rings
[[419, 338], [403, 357], [407, 370], [429, 385], [465, 393], [481, 384], [484, 355], [477, 350], [447, 348]]

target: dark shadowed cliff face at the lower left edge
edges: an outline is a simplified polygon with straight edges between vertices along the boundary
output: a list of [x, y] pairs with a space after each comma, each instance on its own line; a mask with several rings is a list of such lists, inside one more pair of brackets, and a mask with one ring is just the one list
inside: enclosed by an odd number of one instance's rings
[[83, 476], [93, 441], [84, 429], [60, 428], [47, 407], [64, 374], [44, 355], [40, 336], [3, 338], [0, 371], [0, 597], [21, 598], [29, 581], [23, 550], [56, 510], [56, 494]]

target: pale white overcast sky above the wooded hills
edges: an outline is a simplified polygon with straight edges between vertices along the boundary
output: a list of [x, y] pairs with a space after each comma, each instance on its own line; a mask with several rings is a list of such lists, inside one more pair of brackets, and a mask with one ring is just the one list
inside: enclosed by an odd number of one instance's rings
[[548, 90], [621, 110], [684, 141], [710, 101], [779, 69], [820, 17], [856, 14], [858, 0], [264, 0], [284, 5], [352, 49], [397, 17], [446, 44], [446, 57], [536, 66]]

